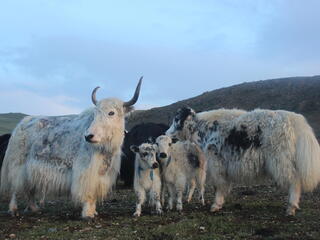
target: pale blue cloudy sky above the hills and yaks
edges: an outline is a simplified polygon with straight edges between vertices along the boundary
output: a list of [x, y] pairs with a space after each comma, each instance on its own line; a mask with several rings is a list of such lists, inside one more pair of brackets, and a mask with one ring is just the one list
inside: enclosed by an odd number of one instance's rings
[[319, 0], [3, 0], [0, 113], [136, 109], [243, 82], [320, 74]]

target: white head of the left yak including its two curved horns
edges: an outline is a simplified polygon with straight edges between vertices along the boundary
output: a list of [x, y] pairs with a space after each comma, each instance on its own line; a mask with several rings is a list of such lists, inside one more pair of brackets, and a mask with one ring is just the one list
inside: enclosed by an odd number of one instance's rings
[[122, 144], [125, 131], [124, 117], [126, 113], [133, 109], [133, 105], [139, 98], [141, 82], [142, 77], [136, 87], [134, 96], [128, 102], [116, 98], [106, 98], [98, 101], [96, 91], [99, 87], [93, 90], [91, 99], [95, 108], [93, 120], [84, 136], [87, 142], [96, 145], [113, 145], [115, 143], [115, 146], [119, 146]]

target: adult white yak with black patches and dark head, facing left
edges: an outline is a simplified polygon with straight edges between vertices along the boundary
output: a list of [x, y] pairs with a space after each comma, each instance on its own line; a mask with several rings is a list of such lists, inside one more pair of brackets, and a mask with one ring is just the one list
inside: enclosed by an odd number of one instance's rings
[[300, 114], [182, 108], [167, 134], [194, 141], [204, 151], [216, 188], [213, 212], [222, 208], [232, 182], [268, 176], [289, 192], [287, 214], [294, 215], [301, 192], [312, 191], [320, 181], [320, 147]]

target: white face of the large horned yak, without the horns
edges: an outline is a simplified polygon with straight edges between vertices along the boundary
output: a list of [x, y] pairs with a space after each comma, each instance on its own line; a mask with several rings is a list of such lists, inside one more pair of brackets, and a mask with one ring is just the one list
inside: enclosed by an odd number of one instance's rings
[[86, 141], [100, 144], [113, 138], [123, 138], [125, 113], [123, 102], [118, 99], [99, 101], [94, 108], [94, 117], [85, 135]]

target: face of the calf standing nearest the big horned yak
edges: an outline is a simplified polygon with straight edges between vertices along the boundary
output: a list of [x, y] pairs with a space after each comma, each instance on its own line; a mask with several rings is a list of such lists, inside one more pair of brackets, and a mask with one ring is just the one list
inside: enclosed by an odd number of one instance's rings
[[139, 147], [132, 145], [130, 146], [132, 152], [139, 155], [139, 165], [143, 169], [155, 169], [159, 167], [156, 159], [156, 153], [158, 147], [156, 144], [143, 143]]

